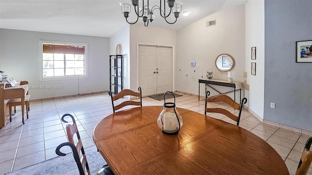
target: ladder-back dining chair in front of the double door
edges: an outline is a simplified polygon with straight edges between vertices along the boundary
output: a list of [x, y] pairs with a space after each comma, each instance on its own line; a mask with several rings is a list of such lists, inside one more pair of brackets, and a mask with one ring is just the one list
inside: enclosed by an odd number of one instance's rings
[[[121, 107], [127, 106], [127, 105], [140, 105], [140, 106], [142, 106], [142, 90], [141, 90], [141, 87], [138, 87], [137, 89], [139, 92], [135, 92], [131, 89], [123, 89], [114, 96], [113, 96], [112, 91], [108, 91], [108, 94], [111, 96], [111, 99], [112, 99], [112, 106], [113, 106], [114, 113], [116, 110], [120, 109]], [[127, 95], [139, 97], [140, 101], [138, 102], [138, 101], [128, 100], [128, 101], [124, 101], [118, 105], [114, 105], [114, 101], [116, 101], [116, 100], [118, 100], [124, 96], [127, 96]]]

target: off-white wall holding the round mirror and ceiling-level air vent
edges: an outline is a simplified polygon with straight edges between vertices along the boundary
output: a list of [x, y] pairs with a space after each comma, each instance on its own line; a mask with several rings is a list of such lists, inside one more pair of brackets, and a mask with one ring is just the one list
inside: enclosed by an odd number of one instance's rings
[[[206, 22], [214, 19], [216, 25], [206, 27]], [[178, 30], [176, 43], [177, 90], [198, 94], [198, 79], [202, 77], [206, 79], [208, 69], [214, 71], [214, 79], [227, 80], [227, 72], [215, 68], [215, 59], [221, 53], [228, 53], [234, 57], [233, 79], [244, 82], [244, 6], [216, 12]], [[192, 61], [195, 61], [199, 68], [191, 67]], [[200, 95], [205, 95], [203, 84]], [[236, 98], [236, 101], [237, 99], [239, 98]]]

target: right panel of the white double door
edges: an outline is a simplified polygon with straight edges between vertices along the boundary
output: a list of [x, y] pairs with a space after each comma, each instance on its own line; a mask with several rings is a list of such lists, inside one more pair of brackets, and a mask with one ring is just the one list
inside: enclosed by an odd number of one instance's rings
[[172, 90], [172, 49], [157, 47], [156, 49], [156, 93]]

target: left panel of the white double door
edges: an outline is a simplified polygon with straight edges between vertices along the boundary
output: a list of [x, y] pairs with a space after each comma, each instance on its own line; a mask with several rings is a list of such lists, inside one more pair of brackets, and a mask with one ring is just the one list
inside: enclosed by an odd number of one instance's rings
[[138, 85], [142, 95], [156, 94], [155, 72], [156, 47], [139, 46], [138, 48]]

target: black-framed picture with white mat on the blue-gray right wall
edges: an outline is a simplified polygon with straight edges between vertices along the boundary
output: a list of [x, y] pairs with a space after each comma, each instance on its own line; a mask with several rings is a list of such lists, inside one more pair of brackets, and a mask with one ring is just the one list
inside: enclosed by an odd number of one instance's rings
[[312, 63], [312, 40], [296, 41], [296, 63]]

